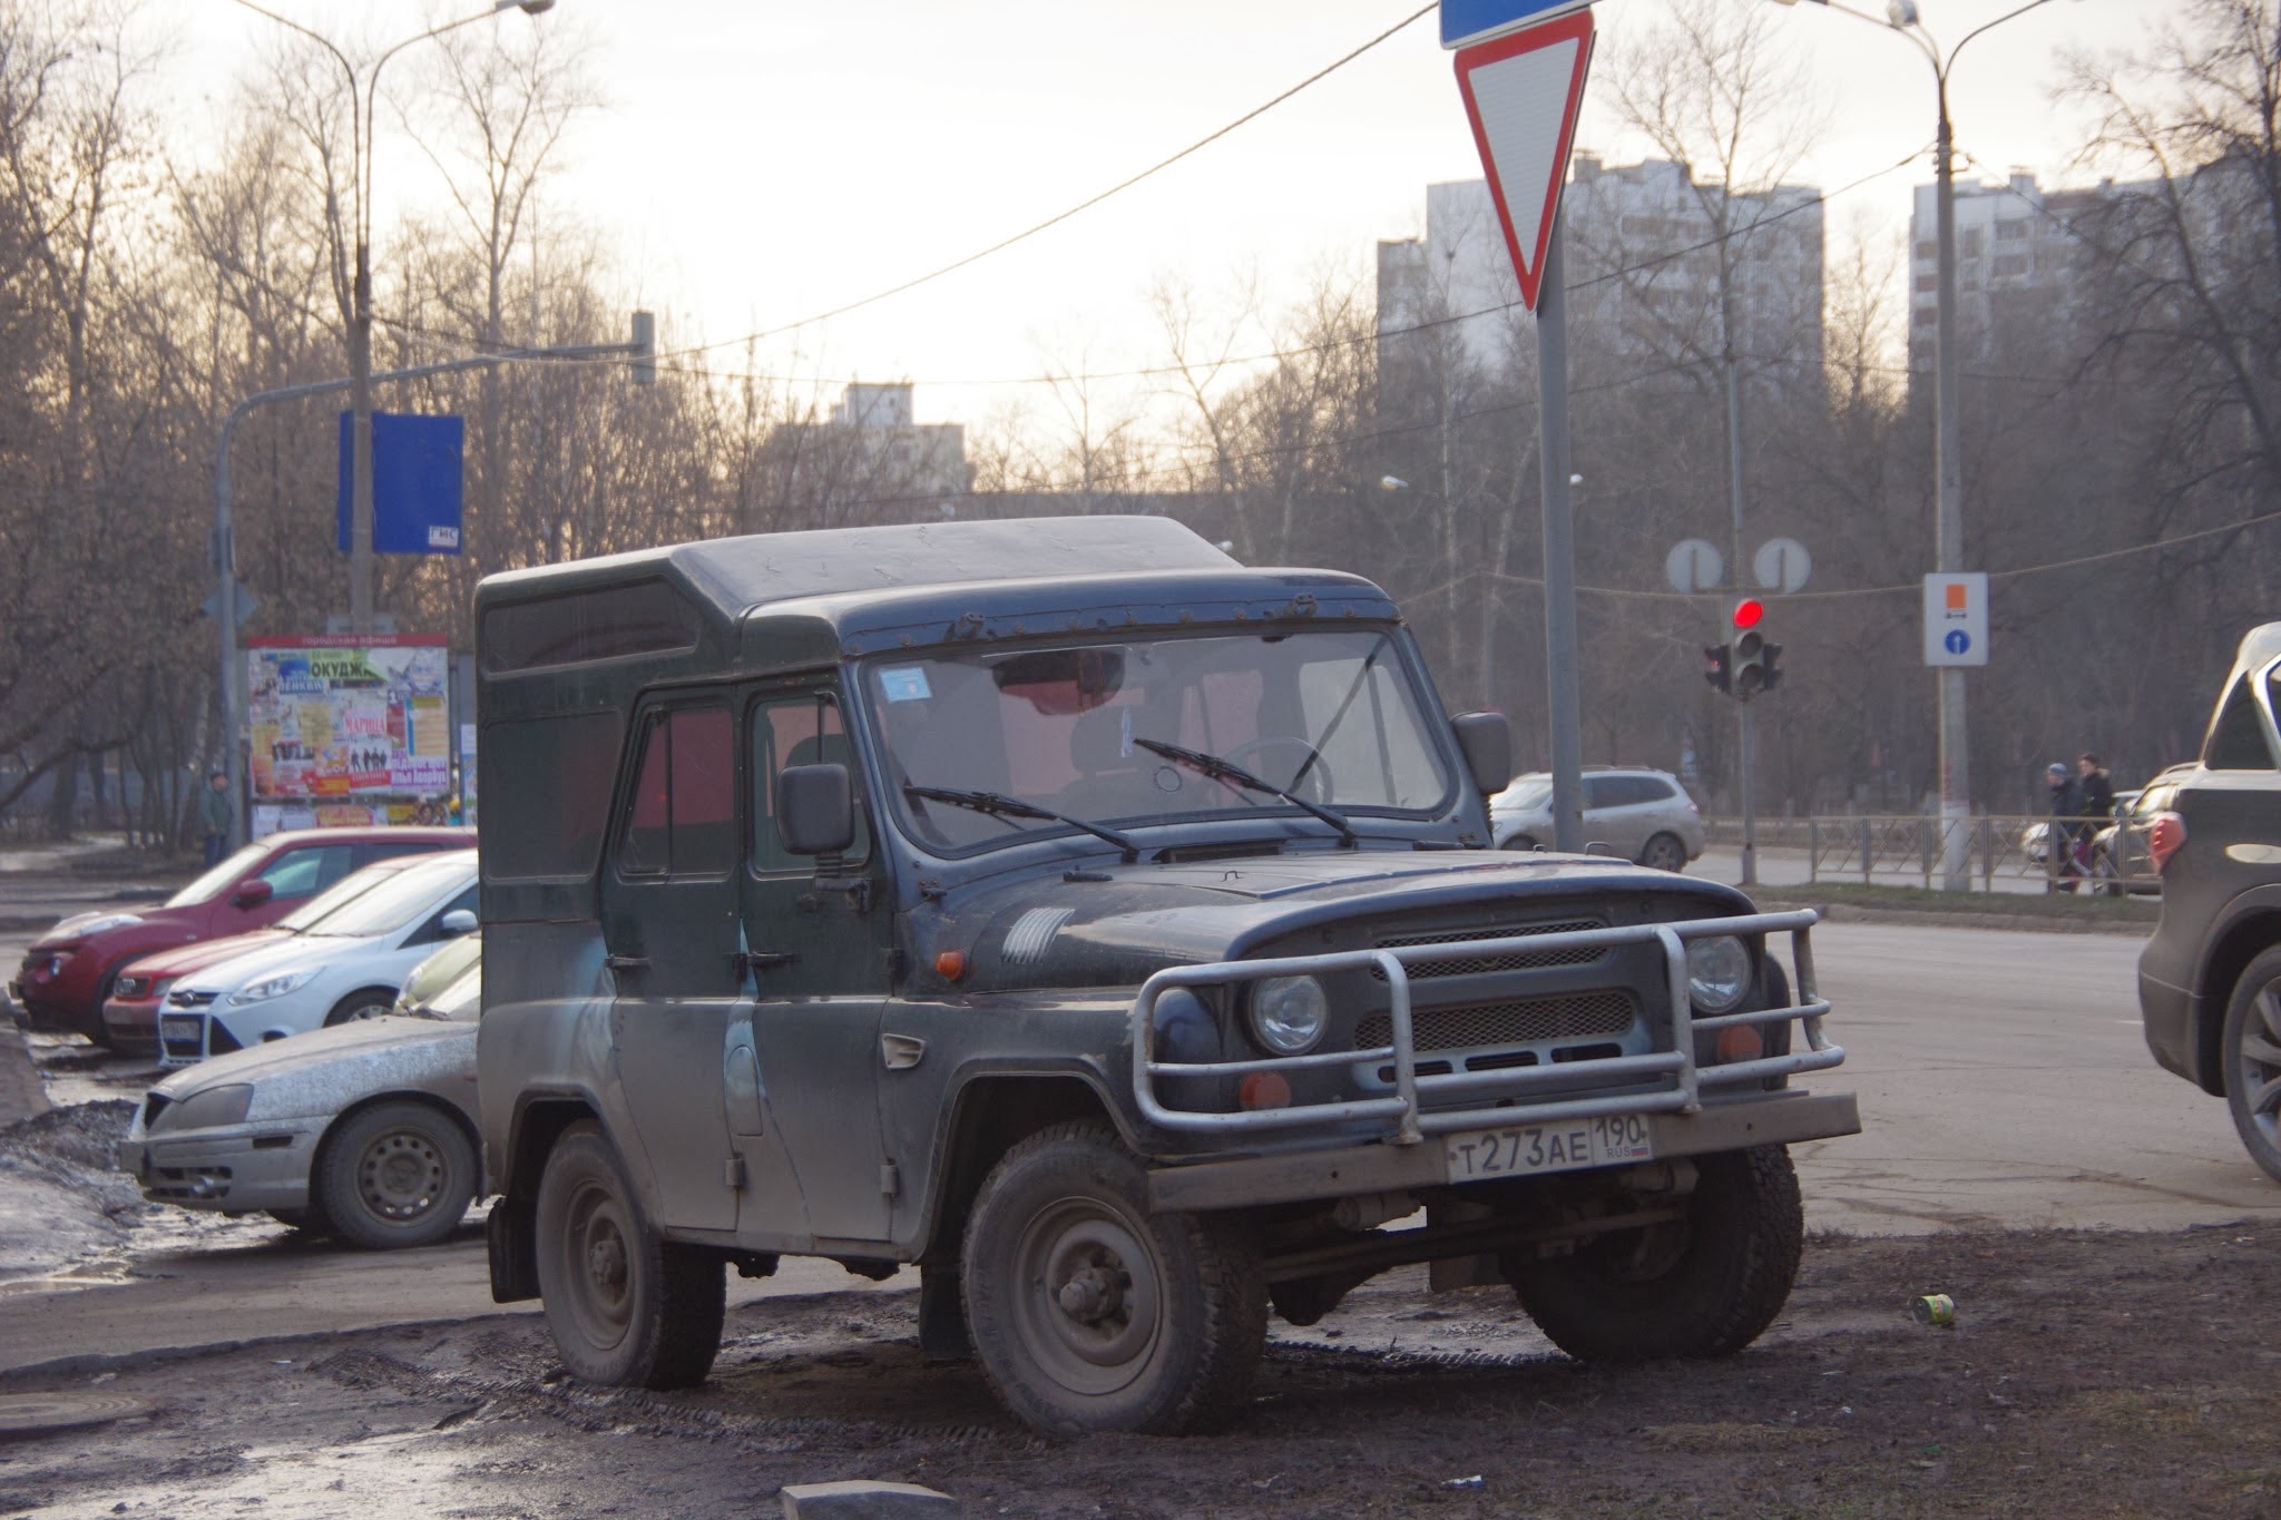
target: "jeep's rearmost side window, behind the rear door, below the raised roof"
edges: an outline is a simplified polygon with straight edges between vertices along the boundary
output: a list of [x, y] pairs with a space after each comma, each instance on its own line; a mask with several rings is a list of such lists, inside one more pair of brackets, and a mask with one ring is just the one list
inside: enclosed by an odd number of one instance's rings
[[618, 713], [484, 727], [484, 875], [545, 882], [593, 875], [618, 777]]

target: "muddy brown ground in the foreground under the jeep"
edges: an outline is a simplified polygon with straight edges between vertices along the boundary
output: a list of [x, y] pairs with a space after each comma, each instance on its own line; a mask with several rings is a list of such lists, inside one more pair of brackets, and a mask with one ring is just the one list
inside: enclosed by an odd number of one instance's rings
[[[1029, 1433], [972, 1365], [919, 1363], [912, 1294], [732, 1310], [680, 1395], [575, 1386], [502, 1315], [0, 1379], [153, 1406], [0, 1443], [0, 1515], [728, 1515], [842, 1477], [972, 1515], [2276, 1515], [2276, 1247], [1818, 1235], [1747, 1354], [1631, 1370], [1394, 1274], [1277, 1326], [1250, 1411], [1184, 1440]], [[1907, 1315], [1927, 1290], [1955, 1326]]]

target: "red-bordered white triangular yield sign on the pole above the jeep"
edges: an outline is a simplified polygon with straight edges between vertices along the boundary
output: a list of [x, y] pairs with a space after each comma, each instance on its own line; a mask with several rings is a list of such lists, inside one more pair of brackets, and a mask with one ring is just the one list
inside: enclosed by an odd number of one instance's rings
[[1505, 228], [1521, 303], [1537, 310], [1544, 251], [1560, 212], [1576, 107], [1592, 66], [1592, 11], [1512, 32], [1458, 52], [1458, 91], [1489, 198]]

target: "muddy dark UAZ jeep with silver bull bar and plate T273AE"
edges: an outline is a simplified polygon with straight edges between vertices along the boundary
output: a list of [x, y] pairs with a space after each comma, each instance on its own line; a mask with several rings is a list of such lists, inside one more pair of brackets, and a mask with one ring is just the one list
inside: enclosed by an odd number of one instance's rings
[[[730, 538], [477, 593], [490, 1274], [600, 1383], [723, 1274], [917, 1262], [1042, 1429], [1209, 1424], [1432, 1262], [1585, 1358], [1747, 1345], [1859, 1128], [1811, 914], [1487, 848], [1348, 574], [1166, 520]], [[1793, 943], [1795, 984], [1768, 950]]]

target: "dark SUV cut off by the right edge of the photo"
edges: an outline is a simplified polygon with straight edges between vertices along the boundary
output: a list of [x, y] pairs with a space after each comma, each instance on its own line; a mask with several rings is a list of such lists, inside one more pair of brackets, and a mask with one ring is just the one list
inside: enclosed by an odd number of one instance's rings
[[2224, 1096], [2249, 1158], [2281, 1180], [2281, 622], [2242, 638], [2201, 763], [2165, 773], [2146, 834], [2162, 923], [2140, 953], [2146, 1048]]

